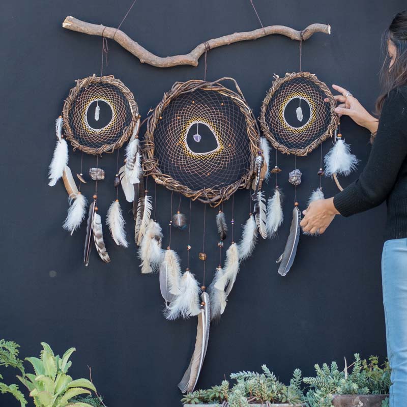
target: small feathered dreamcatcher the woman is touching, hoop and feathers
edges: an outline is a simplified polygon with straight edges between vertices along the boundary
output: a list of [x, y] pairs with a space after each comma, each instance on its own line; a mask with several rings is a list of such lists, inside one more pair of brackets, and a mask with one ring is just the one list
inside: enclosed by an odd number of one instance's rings
[[[283, 254], [277, 259], [278, 272], [285, 276], [292, 267], [300, 239], [300, 204], [297, 201], [297, 186], [302, 173], [297, 168], [297, 156], [306, 156], [321, 144], [321, 163], [317, 175], [319, 185], [312, 191], [307, 206], [314, 200], [323, 199], [322, 177], [340, 173], [348, 175], [356, 165], [356, 157], [338, 133], [339, 118], [335, 113], [336, 102], [328, 86], [309, 72], [287, 73], [283, 78], [275, 76], [268, 91], [259, 117], [264, 135], [276, 149], [275, 190], [269, 199], [267, 225], [277, 231], [282, 223], [281, 191], [277, 184], [277, 151], [295, 155], [295, 168], [289, 173], [288, 182], [295, 186], [295, 203], [289, 236]], [[334, 147], [325, 156], [325, 171], [322, 164], [322, 143], [334, 136]], [[318, 234], [318, 233], [316, 233]]]

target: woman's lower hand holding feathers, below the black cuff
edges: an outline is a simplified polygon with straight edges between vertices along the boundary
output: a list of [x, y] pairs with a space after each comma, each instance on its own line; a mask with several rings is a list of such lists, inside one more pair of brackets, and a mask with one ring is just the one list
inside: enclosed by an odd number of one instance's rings
[[319, 199], [310, 203], [300, 225], [305, 232], [323, 234], [339, 212], [334, 206], [334, 198]]

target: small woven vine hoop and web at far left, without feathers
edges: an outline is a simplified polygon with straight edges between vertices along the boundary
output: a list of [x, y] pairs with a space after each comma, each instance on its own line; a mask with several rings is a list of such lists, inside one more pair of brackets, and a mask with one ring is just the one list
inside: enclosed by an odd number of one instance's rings
[[[101, 128], [92, 127], [90, 114], [104, 102], [110, 113]], [[110, 109], [109, 109], [110, 108]], [[114, 76], [89, 76], [76, 81], [62, 110], [64, 134], [72, 144], [86, 154], [112, 153], [132, 135], [139, 119], [138, 105], [133, 94]]]

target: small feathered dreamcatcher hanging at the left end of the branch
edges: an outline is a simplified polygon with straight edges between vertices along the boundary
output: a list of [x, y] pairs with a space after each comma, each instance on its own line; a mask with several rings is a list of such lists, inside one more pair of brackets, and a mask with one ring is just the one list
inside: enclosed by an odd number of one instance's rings
[[[109, 263], [102, 230], [102, 219], [98, 214], [97, 185], [105, 179], [105, 171], [99, 168], [99, 158], [103, 153], [113, 153], [129, 140], [126, 149], [125, 165], [117, 171], [114, 179], [116, 199], [111, 203], [106, 223], [114, 242], [127, 247], [124, 231], [124, 220], [118, 199], [118, 187], [124, 186], [126, 198], [134, 200], [138, 189], [141, 171], [141, 160], [138, 147], [138, 127], [140, 117], [138, 106], [128, 88], [113, 76], [89, 76], [76, 81], [65, 100], [62, 115], [56, 120], [56, 147], [49, 166], [50, 186], [63, 179], [69, 195], [70, 207], [63, 224], [64, 229], [73, 232], [80, 227], [86, 216], [88, 200], [81, 192], [81, 185], [88, 183], [82, 172], [83, 153], [96, 156], [96, 167], [89, 169], [89, 177], [95, 181], [95, 192], [89, 206], [86, 239], [84, 245], [84, 263], [89, 264], [89, 255], [95, 243], [97, 252], [105, 263]], [[82, 154], [81, 168], [76, 173], [77, 186], [72, 171], [68, 166], [68, 143], [73, 151]], [[126, 188], [127, 187], [127, 188]], [[138, 198], [137, 198], [138, 200]]]

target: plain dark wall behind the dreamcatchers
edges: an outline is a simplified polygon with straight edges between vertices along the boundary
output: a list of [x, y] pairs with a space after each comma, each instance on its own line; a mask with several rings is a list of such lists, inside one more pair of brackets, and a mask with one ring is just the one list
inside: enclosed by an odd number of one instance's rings
[[[47, 166], [54, 148], [54, 120], [74, 80], [100, 73], [101, 38], [64, 30], [68, 15], [117, 26], [131, 2], [92, 0], [21, 2], [8, 0], [0, 13], [2, 55], [1, 159], [2, 234], [0, 337], [21, 343], [22, 356], [36, 355], [40, 341], [63, 353], [75, 346], [71, 373], [94, 381], [108, 405], [179, 405], [177, 383], [189, 363], [196, 319], [168, 322], [158, 276], [141, 275], [134, 247], [118, 248], [105, 240], [112, 262], [104, 265], [93, 251], [83, 266], [84, 227], [70, 237], [61, 224], [68, 207], [60, 182], [47, 186]], [[316, 34], [303, 44], [303, 70], [327, 84], [350, 89], [373, 109], [379, 92], [380, 38], [392, 15], [405, 6], [401, 0], [255, 1], [265, 25], [302, 29], [310, 23], [329, 23], [332, 35]], [[138, 0], [122, 29], [158, 55], [189, 52], [210, 38], [250, 31], [259, 23], [247, 0], [157, 2]], [[142, 117], [155, 107], [173, 82], [203, 77], [197, 68], [159, 69], [142, 65], [118, 44], [109, 41], [108, 67], [132, 90]], [[217, 48], [208, 53], [207, 78], [234, 77], [256, 117], [274, 73], [295, 72], [299, 43], [271, 36]], [[144, 130], [144, 129], [143, 129]], [[352, 150], [366, 162], [368, 133], [344, 118], [342, 133]], [[324, 144], [324, 153], [330, 141]], [[85, 157], [85, 170], [94, 166]], [[70, 153], [70, 166], [79, 172], [80, 154]], [[99, 212], [105, 214], [114, 197], [115, 155], [103, 156], [107, 172], [99, 184]], [[303, 183], [300, 202], [318, 182], [319, 150], [297, 160]], [[386, 356], [380, 258], [384, 206], [351, 219], [337, 217], [324, 236], [301, 236], [295, 266], [282, 278], [276, 258], [283, 250], [293, 207], [293, 187], [286, 181], [293, 156], [279, 155], [280, 186], [286, 194], [286, 221], [277, 240], [259, 242], [253, 258], [242, 265], [221, 323], [211, 328], [208, 354], [199, 387], [219, 383], [237, 370], [258, 370], [266, 363], [283, 381], [294, 368], [311, 374], [314, 363], [354, 352]], [[385, 168], [383, 169], [385, 170]], [[85, 172], [85, 171], [84, 171]], [[357, 173], [343, 179], [347, 185]], [[324, 180], [326, 196], [336, 187]], [[154, 188], [150, 180], [150, 190]], [[271, 191], [271, 185], [266, 186]], [[93, 186], [84, 193], [91, 197]], [[157, 218], [167, 244], [170, 193], [157, 188]], [[178, 197], [175, 198], [176, 201]], [[124, 203], [131, 240], [133, 221]], [[187, 212], [188, 200], [182, 199]], [[231, 202], [224, 208], [230, 219]], [[217, 259], [217, 210], [207, 210], [208, 278]], [[247, 218], [248, 193], [235, 195], [235, 219]], [[202, 244], [203, 205], [192, 204], [192, 271], [202, 277], [197, 253]], [[239, 228], [237, 228], [239, 234]], [[185, 232], [175, 231], [172, 246], [185, 261]], [[51, 277], [50, 271], [56, 276]], [[55, 273], [51, 273], [53, 275]], [[207, 284], [209, 282], [207, 281]], [[9, 373], [10, 381], [12, 375]], [[0, 405], [16, 405], [7, 396]]]

